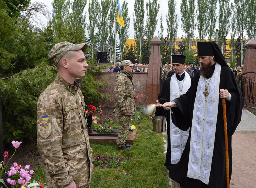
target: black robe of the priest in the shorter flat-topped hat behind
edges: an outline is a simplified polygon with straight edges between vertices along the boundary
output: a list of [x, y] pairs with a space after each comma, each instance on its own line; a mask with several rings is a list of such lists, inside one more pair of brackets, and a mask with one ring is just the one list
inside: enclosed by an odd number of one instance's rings
[[[165, 102], [170, 102], [170, 83], [171, 83], [171, 77], [176, 76], [179, 81], [182, 81], [184, 79], [185, 73], [181, 75], [181, 77], [178, 74], [172, 74], [170, 77], [168, 77], [162, 87], [162, 90], [160, 94], [158, 95], [158, 100], [161, 104], [164, 104]], [[191, 78], [191, 83], [193, 81], [193, 76], [189, 75]], [[165, 160], [165, 166], [168, 170], [170, 170], [171, 165], [171, 143], [170, 143], [170, 110], [164, 110], [162, 107], [156, 109], [156, 116], [162, 115], [167, 116], [167, 152], [166, 152], [166, 160]]]

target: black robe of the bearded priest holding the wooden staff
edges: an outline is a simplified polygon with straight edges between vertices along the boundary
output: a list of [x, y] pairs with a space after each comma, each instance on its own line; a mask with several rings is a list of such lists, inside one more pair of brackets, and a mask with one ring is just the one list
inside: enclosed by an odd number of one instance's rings
[[[215, 69], [215, 64], [211, 66], [212, 73]], [[177, 107], [171, 108], [174, 112], [172, 115], [172, 122], [181, 130], [190, 128], [189, 137], [182, 153], [180, 161], [171, 166], [169, 169], [169, 177], [180, 183], [182, 188], [226, 188], [226, 164], [225, 164], [225, 135], [223, 123], [222, 99], [219, 95], [219, 106], [216, 123], [216, 134], [213, 149], [213, 157], [211, 164], [211, 172], [209, 177], [209, 184], [204, 184], [200, 180], [187, 177], [188, 160], [190, 151], [190, 138], [193, 109], [195, 105], [195, 97], [197, 92], [197, 85], [200, 74], [196, 73], [191, 87], [186, 94], [174, 99]], [[232, 150], [231, 150], [231, 136], [236, 130], [237, 125], [241, 120], [242, 115], [242, 93], [238, 86], [234, 73], [227, 66], [221, 65], [220, 74], [220, 89], [227, 89], [231, 94], [231, 101], [226, 100], [226, 116], [227, 116], [227, 134], [229, 144], [229, 174], [231, 178], [232, 172]]]

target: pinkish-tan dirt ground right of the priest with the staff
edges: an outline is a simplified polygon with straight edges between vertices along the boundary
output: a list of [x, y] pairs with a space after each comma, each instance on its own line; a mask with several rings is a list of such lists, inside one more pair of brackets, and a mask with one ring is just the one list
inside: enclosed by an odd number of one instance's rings
[[[171, 182], [173, 188], [180, 188]], [[256, 188], [256, 131], [236, 131], [232, 136], [230, 188]]]

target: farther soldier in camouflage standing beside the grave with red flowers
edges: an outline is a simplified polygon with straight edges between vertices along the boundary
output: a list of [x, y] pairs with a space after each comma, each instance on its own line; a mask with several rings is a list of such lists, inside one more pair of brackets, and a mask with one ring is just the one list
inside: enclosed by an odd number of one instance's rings
[[133, 64], [130, 60], [121, 61], [121, 72], [116, 75], [115, 83], [115, 114], [119, 119], [118, 138], [116, 143], [118, 149], [131, 151], [131, 145], [125, 143], [126, 135], [128, 134], [131, 116], [135, 115], [135, 91], [132, 83], [131, 74]]

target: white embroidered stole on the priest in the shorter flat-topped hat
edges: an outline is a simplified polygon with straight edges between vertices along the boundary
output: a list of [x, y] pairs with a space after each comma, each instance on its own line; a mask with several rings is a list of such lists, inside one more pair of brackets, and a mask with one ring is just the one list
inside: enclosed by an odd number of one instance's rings
[[[184, 82], [184, 83], [183, 83]], [[182, 88], [183, 85], [183, 88]], [[180, 89], [182, 88], [182, 94], [186, 93], [191, 85], [191, 78], [187, 72], [185, 72], [185, 77], [182, 81], [176, 78], [176, 75], [171, 77], [170, 82], [170, 101], [180, 96]], [[177, 164], [183, 153], [184, 147], [186, 145], [189, 129], [187, 131], [182, 131], [176, 127], [171, 121], [170, 113], [170, 139], [171, 140], [171, 164]]]

